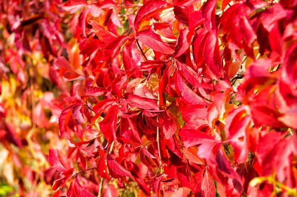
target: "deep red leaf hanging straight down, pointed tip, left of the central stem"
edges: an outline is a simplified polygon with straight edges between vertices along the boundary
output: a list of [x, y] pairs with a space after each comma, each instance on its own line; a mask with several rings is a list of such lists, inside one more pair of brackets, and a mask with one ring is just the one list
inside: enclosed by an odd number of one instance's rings
[[108, 143], [112, 143], [115, 140], [117, 111], [117, 105], [111, 106], [105, 118], [99, 122], [100, 130]]

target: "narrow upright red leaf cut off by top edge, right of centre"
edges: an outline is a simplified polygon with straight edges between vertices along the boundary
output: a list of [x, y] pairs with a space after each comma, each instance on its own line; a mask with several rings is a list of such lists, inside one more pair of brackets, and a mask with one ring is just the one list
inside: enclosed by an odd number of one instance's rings
[[216, 24], [215, 24], [215, 6], [216, 0], [207, 0], [202, 6], [202, 17], [204, 18], [204, 24], [209, 32], [212, 32], [215, 36], [217, 35]]

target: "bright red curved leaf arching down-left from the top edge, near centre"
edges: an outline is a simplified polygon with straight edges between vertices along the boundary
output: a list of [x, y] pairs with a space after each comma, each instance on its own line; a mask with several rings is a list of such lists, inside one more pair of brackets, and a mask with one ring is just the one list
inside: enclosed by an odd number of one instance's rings
[[169, 7], [171, 7], [171, 5], [168, 4], [166, 1], [161, 1], [161, 0], [147, 1], [137, 12], [137, 15], [134, 21], [135, 30], [138, 31], [143, 21], [148, 20], [148, 18], [150, 18], [151, 16]]

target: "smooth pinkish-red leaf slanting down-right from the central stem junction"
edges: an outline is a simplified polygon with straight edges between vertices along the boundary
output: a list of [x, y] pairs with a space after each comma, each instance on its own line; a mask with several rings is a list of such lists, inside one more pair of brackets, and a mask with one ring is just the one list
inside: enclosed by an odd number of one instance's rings
[[176, 88], [178, 88], [182, 98], [189, 104], [205, 105], [205, 101], [199, 97], [190, 87], [185, 83], [179, 72], [176, 73]]

